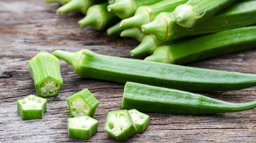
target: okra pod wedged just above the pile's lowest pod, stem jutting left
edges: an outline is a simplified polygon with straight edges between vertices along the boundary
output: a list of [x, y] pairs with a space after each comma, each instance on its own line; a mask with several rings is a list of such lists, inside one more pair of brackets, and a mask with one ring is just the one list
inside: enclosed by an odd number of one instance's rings
[[187, 39], [176, 38], [176, 39], [169, 39], [169, 40], [160, 40], [155, 35], [148, 34], [143, 37], [141, 43], [136, 48], [130, 51], [130, 55], [131, 56], [138, 56], [142, 54], [152, 55], [154, 51], [157, 49], [157, 47], [176, 44], [184, 40], [187, 40]]

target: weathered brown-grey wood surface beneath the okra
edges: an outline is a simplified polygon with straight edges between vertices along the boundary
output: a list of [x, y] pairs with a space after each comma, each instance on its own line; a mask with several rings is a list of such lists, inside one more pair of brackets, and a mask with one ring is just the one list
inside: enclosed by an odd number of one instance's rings
[[[0, 142], [84, 142], [69, 138], [67, 133], [66, 99], [88, 88], [99, 101], [94, 116], [99, 121], [98, 132], [88, 141], [117, 142], [103, 130], [108, 111], [120, 110], [123, 84], [78, 77], [72, 68], [60, 60], [63, 87], [58, 97], [47, 99], [43, 119], [22, 120], [16, 101], [29, 94], [37, 95], [29, 74], [28, 63], [40, 51], [52, 53], [61, 49], [75, 52], [90, 49], [100, 54], [130, 57], [129, 51], [138, 42], [112, 38], [91, 27], [80, 28], [83, 15], [71, 12], [55, 15], [58, 4], [43, 0], [0, 0]], [[256, 74], [256, 50], [247, 50], [194, 62], [188, 66], [238, 71]], [[144, 56], [138, 57], [140, 59]], [[202, 93], [233, 103], [256, 100], [256, 87]], [[240, 113], [205, 116], [184, 116], [147, 113], [150, 125], [124, 142], [255, 142], [256, 109]]]

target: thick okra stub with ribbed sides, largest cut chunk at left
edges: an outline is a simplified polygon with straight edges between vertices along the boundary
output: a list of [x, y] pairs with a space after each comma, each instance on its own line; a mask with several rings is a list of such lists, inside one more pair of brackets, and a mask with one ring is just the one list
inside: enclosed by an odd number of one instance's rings
[[59, 60], [49, 53], [40, 52], [29, 62], [29, 71], [39, 97], [58, 96], [62, 87]]

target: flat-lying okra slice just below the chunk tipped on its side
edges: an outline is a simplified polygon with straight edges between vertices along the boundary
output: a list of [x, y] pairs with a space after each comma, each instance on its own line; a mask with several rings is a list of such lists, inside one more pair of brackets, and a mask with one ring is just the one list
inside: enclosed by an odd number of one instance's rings
[[68, 134], [71, 138], [89, 139], [98, 131], [98, 121], [87, 115], [68, 119]]

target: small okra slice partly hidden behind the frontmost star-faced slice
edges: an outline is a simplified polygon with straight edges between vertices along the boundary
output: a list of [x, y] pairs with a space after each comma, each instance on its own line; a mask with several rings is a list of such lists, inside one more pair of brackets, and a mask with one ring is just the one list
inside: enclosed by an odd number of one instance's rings
[[136, 132], [142, 133], [149, 125], [149, 116], [136, 109], [128, 110], [136, 127]]

